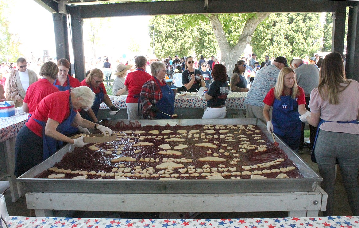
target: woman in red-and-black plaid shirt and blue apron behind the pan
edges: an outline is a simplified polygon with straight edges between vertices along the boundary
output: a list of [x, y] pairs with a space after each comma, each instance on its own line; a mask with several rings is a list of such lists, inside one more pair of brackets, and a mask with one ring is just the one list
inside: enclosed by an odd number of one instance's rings
[[165, 64], [153, 62], [151, 74], [152, 77], [143, 85], [140, 93], [142, 118], [147, 120], [170, 119], [174, 113], [174, 93], [164, 80]]

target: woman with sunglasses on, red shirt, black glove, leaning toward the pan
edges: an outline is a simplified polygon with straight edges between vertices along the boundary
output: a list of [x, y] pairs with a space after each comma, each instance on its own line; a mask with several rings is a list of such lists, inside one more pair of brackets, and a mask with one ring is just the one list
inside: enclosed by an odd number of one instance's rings
[[111, 111], [118, 110], [118, 108], [112, 104], [111, 99], [107, 95], [106, 88], [103, 84], [103, 73], [100, 69], [92, 69], [87, 78], [81, 82], [81, 85], [90, 87], [92, 92], [95, 93], [95, 100], [92, 107], [87, 112], [81, 112], [81, 115], [83, 115], [86, 120], [90, 120], [95, 123], [98, 122], [97, 113], [102, 101], [105, 102]]

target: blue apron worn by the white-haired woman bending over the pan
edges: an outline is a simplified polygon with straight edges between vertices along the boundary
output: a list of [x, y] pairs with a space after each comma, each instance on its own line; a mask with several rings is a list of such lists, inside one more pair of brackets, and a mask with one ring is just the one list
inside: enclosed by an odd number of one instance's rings
[[[60, 123], [59, 126], [56, 127], [56, 131], [60, 132], [61, 134], [64, 134], [63, 132], [65, 132], [70, 127], [71, 123], [74, 121], [76, 113], [77, 112], [74, 111], [74, 109], [72, 107], [71, 95], [70, 95], [70, 115], [69, 115], [69, 117], [67, 117], [66, 120], [62, 121], [62, 123]], [[51, 155], [53, 155], [58, 149], [60, 149], [63, 142], [53, 139], [49, 136], [46, 136], [45, 135], [46, 122], [36, 120], [35, 118], [33, 118], [33, 119], [34, 119], [34, 121], [38, 122], [42, 126], [42, 140], [43, 140], [42, 159], [46, 160]]]

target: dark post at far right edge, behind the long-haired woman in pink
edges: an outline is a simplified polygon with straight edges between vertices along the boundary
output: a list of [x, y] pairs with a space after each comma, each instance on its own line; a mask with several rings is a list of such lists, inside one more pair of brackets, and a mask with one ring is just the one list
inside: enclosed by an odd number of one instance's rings
[[359, 6], [349, 9], [345, 72], [349, 79], [359, 81]]

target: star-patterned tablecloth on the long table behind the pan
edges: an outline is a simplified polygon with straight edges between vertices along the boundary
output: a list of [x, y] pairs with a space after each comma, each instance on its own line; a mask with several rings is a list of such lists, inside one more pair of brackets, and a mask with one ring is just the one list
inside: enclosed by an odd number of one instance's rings
[[[229, 93], [225, 106], [227, 109], [245, 109], [244, 100], [247, 97], [247, 93]], [[125, 109], [126, 108], [126, 98], [124, 96], [110, 96], [110, 99], [117, 108]], [[177, 93], [174, 98], [174, 107], [176, 108], [206, 108], [207, 101], [204, 97], [197, 96], [196, 94], [186, 94], [181, 96]], [[105, 103], [102, 102], [100, 109], [109, 109]]]

